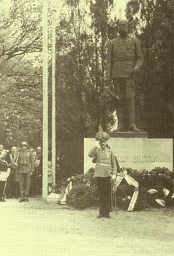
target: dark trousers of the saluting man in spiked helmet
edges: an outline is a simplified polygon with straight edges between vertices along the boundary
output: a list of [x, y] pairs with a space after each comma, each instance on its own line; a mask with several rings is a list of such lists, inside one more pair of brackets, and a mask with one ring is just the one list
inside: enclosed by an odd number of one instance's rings
[[110, 177], [97, 177], [99, 191], [99, 214], [106, 216], [110, 214]]

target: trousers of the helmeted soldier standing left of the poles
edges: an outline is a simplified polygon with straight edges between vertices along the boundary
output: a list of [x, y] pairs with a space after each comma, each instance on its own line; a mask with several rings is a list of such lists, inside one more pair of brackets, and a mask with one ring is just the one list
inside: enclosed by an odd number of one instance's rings
[[29, 188], [31, 183], [30, 173], [18, 173], [20, 196], [29, 196]]

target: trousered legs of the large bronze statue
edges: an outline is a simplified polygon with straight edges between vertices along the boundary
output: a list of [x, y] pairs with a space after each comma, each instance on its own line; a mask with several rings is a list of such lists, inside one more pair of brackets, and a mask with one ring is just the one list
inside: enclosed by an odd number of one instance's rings
[[117, 106], [118, 125], [135, 124], [135, 84], [133, 77], [113, 79], [115, 92], [120, 98]]

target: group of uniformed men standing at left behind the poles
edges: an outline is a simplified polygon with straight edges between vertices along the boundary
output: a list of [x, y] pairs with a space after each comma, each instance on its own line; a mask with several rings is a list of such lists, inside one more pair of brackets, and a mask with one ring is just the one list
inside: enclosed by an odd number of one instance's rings
[[36, 154], [33, 151], [26, 141], [20, 144], [20, 150], [12, 146], [10, 153], [0, 145], [0, 202], [5, 202], [5, 194], [8, 198], [18, 198], [19, 191], [19, 202], [29, 201], [31, 179], [42, 162], [41, 147], [37, 148]]

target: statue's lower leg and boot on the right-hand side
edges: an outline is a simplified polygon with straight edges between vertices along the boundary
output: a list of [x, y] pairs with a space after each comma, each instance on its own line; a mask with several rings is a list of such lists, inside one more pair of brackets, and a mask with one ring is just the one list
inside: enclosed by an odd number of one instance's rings
[[134, 103], [134, 101], [127, 103], [127, 113], [128, 113], [129, 130], [133, 131], [133, 132], [141, 132], [140, 129], [138, 129], [135, 124], [135, 103]]

